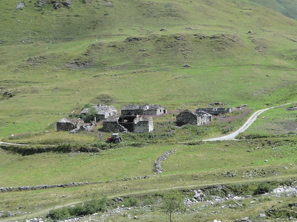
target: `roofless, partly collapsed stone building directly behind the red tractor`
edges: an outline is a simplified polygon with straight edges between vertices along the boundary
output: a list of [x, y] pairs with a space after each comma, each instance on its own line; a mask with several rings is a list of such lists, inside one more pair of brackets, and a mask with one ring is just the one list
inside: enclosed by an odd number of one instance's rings
[[153, 118], [139, 115], [109, 116], [103, 121], [103, 131], [145, 133], [154, 130]]

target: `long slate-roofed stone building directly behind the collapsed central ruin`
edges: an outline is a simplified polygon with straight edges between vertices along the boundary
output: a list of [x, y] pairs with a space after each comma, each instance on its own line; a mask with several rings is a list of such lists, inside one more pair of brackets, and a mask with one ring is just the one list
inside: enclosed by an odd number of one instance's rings
[[161, 115], [167, 110], [161, 105], [127, 105], [122, 109], [122, 115]]

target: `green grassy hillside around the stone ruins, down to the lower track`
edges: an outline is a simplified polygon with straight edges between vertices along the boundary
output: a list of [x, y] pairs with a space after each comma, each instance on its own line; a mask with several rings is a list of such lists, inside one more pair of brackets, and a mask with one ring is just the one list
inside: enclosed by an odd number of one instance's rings
[[[72, 0], [70, 7], [54, 9], [67, 1], [26, 0], [22, 9], [16, 9], [18, 1], [1, 1], [0, 140], [34, 145], [30, 152], [0, 149], [0, 187], [120, 181], [1, 193], [0, 212], [24, 204], [38, 213], [102, 193], [116, 197], [296, 176], [296, 111], [286, 111], [289, 106], [267, 111], [240, 135], [260, 139], [201, 142], [239, 128], [251, 109], [297, 101], [293, 1]], [[169, 111], [154, 117], [154, 132], [127, 133], [111, 149], [62, 153], [63, 147], [106, 148], [98, 142], [102, 126], [95, 133], [55, 132], [59, 119], [99, 102], [118, 110], [161, 104]], [[175, 128], [177, 109], [214, 102], [247, 104], [249, 112]], [[8, 138], [18, 133], [25, 134]], [[36, 144], [56, 144], [57, 152]], [[154, 161], [172, 149], [177, 152], [163, 161], [164, 173], [155, 175]], [[247, 171], [256, 173], [244, 177]], [[264, 207], [259, 209], [255, 217]]]

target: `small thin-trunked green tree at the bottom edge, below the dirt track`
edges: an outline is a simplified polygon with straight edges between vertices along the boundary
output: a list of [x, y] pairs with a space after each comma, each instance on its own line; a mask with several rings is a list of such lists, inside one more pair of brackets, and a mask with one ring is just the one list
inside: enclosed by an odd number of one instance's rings
[[173, 212], [186, 210], [186, 206], [184, 205], [184, 197], [181, 192], [171, 191], [168, 194], [165, 194], [162, 203], [164, 213], [168, 213], [170, 215], [170, 222], [172, 222], [171, 214]]

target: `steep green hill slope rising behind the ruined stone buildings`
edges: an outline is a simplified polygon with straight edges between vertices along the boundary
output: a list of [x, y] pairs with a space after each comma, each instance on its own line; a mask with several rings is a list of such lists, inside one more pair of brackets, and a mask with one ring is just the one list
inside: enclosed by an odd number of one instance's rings
[[45, 129], [88, 102], [259, 108], [296, 98], [297, 21], [272, 9], [227, 0], [65, 2], [16, 9], [19, 2], [3, 1], [1, 136]]

